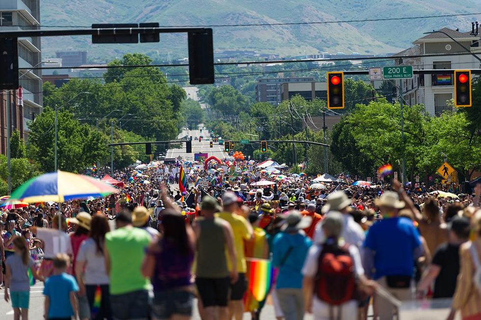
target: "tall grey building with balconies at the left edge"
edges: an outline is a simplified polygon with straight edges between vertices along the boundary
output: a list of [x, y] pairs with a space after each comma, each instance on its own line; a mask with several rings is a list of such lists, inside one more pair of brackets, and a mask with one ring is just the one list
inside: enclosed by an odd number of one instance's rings
[[[40, 29], [40, 0], [1, 0], [0, 30]], [[6, 153], [7, 128], [19, 130], [27, 139], [28, 122], [42, 111], [42, 72], [32, 70], [42, 63], [40, 37], [18, 40], [18, 90], [0, 91], [0, 153]], [[6, 108], [10, 106], [11, 122], [6, 121]]]

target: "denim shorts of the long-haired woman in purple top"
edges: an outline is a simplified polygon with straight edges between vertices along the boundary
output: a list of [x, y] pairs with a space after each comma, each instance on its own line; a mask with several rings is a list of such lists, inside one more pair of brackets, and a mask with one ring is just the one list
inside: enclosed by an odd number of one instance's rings
[[154, 292], [152, 318], [170, 319], [173, 315], [192, 317], [193, 295], [186, 290]]

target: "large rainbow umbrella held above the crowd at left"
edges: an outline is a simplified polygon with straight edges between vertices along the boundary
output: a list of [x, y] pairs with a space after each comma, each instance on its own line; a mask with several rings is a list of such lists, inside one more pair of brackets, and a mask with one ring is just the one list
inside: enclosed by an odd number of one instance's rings
[[27, 203], [64, 202], [87, 197], [106, 197], [119, 192], [103, 181], [65, 171], [50, 172], [31, 178], [15, 190], [11, 200]]

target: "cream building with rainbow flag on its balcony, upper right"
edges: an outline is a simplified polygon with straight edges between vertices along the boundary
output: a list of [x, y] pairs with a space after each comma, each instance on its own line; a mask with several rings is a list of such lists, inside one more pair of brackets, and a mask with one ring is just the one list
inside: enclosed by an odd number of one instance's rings
[[[480, 37], [473, 32], [459, 32], [443, 28], [447, 33], [471, 52], [481, 57]], [[413, 69], [479, 69], [480, 62], [452, 39], [443, 33], [431, 33], [413, 42], [414, 46], [401, 51], [395, 56], [396, 65], [410, 65]], [[443, 57], [403, 58], [407, 55], [452, 54]], [[401, 80], [397, 80], [399, 86]], [[414, 74], [412, 79], [402, 80], [402, 97], [410, 105], [422, 103], [431, 115], [439, 115], [450, 109], [446, 101], [454, 97], [454, 79], [452, 74]]]

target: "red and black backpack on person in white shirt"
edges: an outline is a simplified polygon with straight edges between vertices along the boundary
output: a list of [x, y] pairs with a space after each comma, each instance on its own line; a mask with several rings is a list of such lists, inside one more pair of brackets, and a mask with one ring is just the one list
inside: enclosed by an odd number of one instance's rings
[[323, 246], [319, 255], [314, 290], [320, 300], [330, 305], [337, 306], [357, 299], [354, 261], [347, 245]]

